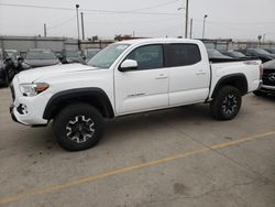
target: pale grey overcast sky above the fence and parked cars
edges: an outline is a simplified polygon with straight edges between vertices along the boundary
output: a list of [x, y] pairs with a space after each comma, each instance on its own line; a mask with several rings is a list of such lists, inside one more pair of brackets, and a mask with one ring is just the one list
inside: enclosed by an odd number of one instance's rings
[[[86, 37], [185, 33], [186, 0], [0, 0], [0, 35], [43, 35], [45, 23], [48, 36], [77, 37], [76, 3]], [[275, 0], [189, 0], [194, 39], [202, 36], [205, 14], [206, 39], [275, 41]]]

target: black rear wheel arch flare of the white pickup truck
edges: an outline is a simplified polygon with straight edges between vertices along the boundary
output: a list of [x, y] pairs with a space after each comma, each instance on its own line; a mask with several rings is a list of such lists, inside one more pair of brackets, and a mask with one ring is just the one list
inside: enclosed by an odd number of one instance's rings
[[227, 75], [219, 79], [213, 89], [211, 98], [215, 98], [219, 89], [223, 86], [233, 86], [238, 88], [241, 91], [242, 96], [245, 95], [249, 90], [248, 79], [244, 74]]

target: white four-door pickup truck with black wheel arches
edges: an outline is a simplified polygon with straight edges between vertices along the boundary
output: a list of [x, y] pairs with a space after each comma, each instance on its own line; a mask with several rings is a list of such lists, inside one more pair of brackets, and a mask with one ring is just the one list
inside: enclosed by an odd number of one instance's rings
[[210, 63], [200, 41], [123, 41], [107, 46], [87, 65], [18, 74], [10, 111], [23, 124], [53, 120], [59, 145], [78, 151], [98, 143], [103, 119], [119, 116], [210, 102], [215, 118], [230, 120], [242, 96], [260, 87], [261, 73], [261, 61]]

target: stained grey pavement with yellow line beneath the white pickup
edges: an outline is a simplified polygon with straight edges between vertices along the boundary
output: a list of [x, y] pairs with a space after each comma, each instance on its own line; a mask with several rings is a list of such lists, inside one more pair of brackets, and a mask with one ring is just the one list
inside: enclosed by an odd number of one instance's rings
[[208, 105], [109, 120], [81, 152], [13, 122], [10, 103], [0, 88], [0, 206], [275, 206], [275, 97], [245, 96], [231, 121]]

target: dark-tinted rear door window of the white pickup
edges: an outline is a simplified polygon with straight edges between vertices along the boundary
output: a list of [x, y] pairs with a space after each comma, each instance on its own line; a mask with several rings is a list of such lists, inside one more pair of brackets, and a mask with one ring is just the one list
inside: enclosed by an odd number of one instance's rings
[[168, 44], [165, 46], [166, 67], [194, 65], [201, 61], [198, 45], [196, 44]]

